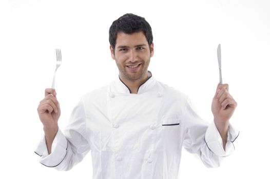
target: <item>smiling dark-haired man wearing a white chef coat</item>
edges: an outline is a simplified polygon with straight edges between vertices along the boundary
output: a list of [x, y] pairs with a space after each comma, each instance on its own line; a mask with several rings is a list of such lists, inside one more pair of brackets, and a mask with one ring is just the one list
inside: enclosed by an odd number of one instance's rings
[[125, 14], [109, 30], [111, 57], [119, 78], [88, 93], [74, 108], [62, 132], [54, 89], [45, 90], [37, 108], [45, 138], [36, 149], [40, 162], [69, 170], [91, 150], [93, 178], [177, 178], [181, 149], [197, 154], [207, 167], [234, 150], [238, 131], [229, 124], [237, 103], [228, 85], [218, 85], [214, 122], [203, 121], [189, 98], [152, 77], [151, 27]]

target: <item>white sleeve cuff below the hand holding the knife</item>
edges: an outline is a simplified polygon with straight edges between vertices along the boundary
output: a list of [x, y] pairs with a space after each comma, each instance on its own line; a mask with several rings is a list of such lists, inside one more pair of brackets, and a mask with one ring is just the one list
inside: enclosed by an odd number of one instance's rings
[[229, 125], [228, 138], [225, 147], [223, 149], [223, 143], [219, 131], [214, 123], [214, 121], [209, 125], [205, 133], [205, 143], [210, 151], [218, 156], [228, 156], [235, 150], [234, 141], [239, 135], [239, 130]]

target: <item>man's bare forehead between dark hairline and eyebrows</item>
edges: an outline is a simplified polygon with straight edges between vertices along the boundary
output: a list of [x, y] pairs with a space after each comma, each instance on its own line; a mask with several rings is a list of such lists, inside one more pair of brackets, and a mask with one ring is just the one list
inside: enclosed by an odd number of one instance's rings
[[117, 33], [117, 39], [115, 47], [117, 46], [132, 46], [136, 44], [148, 44], [143, 32], [134, 32], [132, 34], [126, 34], [124, 32]]

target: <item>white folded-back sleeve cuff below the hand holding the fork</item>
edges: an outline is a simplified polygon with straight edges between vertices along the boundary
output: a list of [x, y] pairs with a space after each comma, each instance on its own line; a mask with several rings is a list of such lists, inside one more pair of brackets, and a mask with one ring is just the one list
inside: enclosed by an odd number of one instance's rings
[[47, 167], [56, 167], [65, 159], [68, 142], [59, 129], [52, 143], [51, 154], [48, 153], [45, 137], [38, 144], [35, 153], [40, 155], [40, 163]]

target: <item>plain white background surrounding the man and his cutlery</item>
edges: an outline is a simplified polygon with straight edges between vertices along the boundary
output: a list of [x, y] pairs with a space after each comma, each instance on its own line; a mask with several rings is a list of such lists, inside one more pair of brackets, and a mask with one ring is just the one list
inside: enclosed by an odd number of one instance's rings
[[269, 178], [270, 3], [262, 0], [1, 1], [0, 178], [91, 178], [90, 152], [67, 172], [38, 163], [43, 128], [36, 108], [51, 86], [55, 48], [63, 61], [55, 84], [61, 128], [83, 94], [118, 77], [108, 29], [125, 13], [152, 27], [153, 76], [186, 93], [209, 122], [221, 43], [223, 82], [238, 102], [231, 119], [240, 129], [236, 150], [215, 169], [183, 151], [180, 178]]

